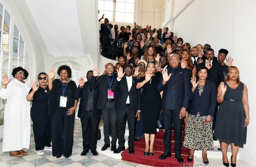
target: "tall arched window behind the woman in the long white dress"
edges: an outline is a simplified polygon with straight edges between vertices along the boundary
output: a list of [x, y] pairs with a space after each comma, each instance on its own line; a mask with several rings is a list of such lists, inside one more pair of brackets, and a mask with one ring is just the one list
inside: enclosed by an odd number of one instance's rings
[[[25, 50], [26, 42], [22, 38], [17, 26], [13, 23], [12, 16], [0, 4], [0, 83], [2, 76], [7, 73], [9, 78], [13, 78], [11, 73], [14, 67], [23, 67], [30, 73], [30, 59], [28, 51]], [[13, 38], [10, 38], [12, 37]], [[13, 44], [13, 45], [12, 45]], [[30, 83], [30, 76], [26, 79]], [[6, 100], [0, 98], [0, 127], [4, 124], [4, 107]], [[2, 132], [0, 132], [2, 135]], [[0, 139], [3, 137], [0, 135]]]

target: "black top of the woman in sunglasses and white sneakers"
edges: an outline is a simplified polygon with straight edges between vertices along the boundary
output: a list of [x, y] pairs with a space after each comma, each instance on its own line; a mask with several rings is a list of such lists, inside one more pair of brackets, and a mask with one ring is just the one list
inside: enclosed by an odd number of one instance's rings
[[[32, 90], [33, 89], [31, 88], [29, 93]], [[32, 100], [33, 103], [31, 107], [31, 112], [30, 112], [31, 117], [47, 116], [48, 107], [49, 107], [48, 94], [50, 92], [48, 86], [46, 87], [45, 90], [47, 91], [47, 93], [45, 93], [44, 89], [39, 86], [38, 90], [35, 92]]]

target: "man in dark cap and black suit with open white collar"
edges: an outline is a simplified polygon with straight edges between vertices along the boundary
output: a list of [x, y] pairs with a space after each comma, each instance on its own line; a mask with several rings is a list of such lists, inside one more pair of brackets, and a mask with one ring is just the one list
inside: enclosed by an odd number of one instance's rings
[[116, 82], [112, 87], [114, 92], [118, 91], [116, 101], [118, 148], [114, 151], [115, 154], [125, 150], [124, 133], [126, 121], [129, 128], [129, 153], [134, 154], [136, 117], [140, 120], [140, 90], [136, 89], [137, 83], [138, 79], [132, 76], [132, 65], [126, 64], [124, 73], [123, 68], [118, 69]]

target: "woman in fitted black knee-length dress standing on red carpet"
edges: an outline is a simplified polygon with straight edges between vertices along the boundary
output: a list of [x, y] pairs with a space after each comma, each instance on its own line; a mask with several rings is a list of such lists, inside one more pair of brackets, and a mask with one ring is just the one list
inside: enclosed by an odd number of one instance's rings
[[[161, 95], [157, 91], [156, 86], [159, 76], [155, 76], [155, 63], [150, 62], [147, 65], [146, 76], [139, 79], [136, 88], [143, 88], [141, 98], [141, 112], [143, 114], [143, 132], [145, 136], [145, 156], [154, 155], [154, 141], [156, 136], [156, 125], [161, 112]], [[149, 146], [150, 135], [150, 146]]]

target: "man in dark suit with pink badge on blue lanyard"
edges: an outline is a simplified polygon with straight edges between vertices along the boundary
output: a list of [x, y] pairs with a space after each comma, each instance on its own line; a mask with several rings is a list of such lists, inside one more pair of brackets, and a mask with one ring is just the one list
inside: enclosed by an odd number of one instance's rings
[[[101, 110], [103, 118], [103, 131], [104, 131], [104, 146], [101, 151], [105, 151], [110, 147], [109, 139], [109, 127], [111, 126], [111, 151], [116, 150], [116, 133], [117, 133], [117, 123], [116, 123], [116, 111], [115, 111], [115, 100], [116, 93], [111, 90], [111, 85], [114, 83], [116, 76], [114, 73], [114, 65], [108, 63], [106, 66], [106, 75], [99, 76], [99, 68], [93, 69], [93, 77], [89, 83], [90, 89], [95, 89], [99, 87], [100, 94], [97, 104], [97, 109]], [[97, 79], [97, 76], [98, 79]]]

